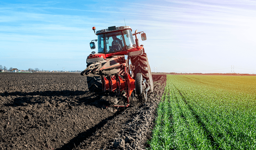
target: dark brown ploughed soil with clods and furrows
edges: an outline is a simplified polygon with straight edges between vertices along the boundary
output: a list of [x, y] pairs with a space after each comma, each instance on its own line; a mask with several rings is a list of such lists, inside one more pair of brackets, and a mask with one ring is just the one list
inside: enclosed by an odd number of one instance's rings
[[80, 73], [0, 73], [0, 150], [145, 149], [166, 75], [131, 106], [116, 93], [91, 93]]

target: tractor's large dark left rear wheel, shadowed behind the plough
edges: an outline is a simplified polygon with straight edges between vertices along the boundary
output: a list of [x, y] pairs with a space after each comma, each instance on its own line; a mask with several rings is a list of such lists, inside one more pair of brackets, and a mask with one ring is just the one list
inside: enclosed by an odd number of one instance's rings
[[[87, 67], [92, 63], [88, 63]], [[87, 85], [90, 92], [102, 92], [102, 78], [98, 76], [86, 77]]]

